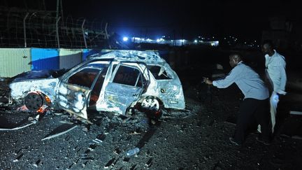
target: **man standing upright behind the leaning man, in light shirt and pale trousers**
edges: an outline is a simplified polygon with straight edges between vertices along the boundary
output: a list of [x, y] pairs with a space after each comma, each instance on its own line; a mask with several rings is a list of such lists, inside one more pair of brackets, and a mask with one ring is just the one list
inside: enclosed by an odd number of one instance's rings
[[279, 97], [286, 94], [286, 62], [285, 57], [276, 52], [276, 50], [273, 50], [273, 43], [271, 41], [264, 41], [261, 45], [261, 50], [265, 57], [266, 80], [268, 80], [268, 87], [271, 92], [271, 124], [272, 132], [274, 132]]

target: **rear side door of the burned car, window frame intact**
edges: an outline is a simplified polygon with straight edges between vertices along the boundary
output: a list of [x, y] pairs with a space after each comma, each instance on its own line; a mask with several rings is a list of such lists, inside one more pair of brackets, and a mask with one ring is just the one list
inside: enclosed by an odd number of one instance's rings
[[118, 64], [105, 89], [107, 111], [124, 114], [140, 97], [144, 81], [143, 74], [134, 64]]

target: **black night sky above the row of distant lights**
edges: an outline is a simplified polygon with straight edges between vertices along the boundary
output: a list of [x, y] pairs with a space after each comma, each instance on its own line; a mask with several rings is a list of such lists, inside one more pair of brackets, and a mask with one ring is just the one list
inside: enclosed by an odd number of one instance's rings
[[[26, 0], [24, 0], [26, 1]], [[35, 1], [35, 0], [27, 0]], [[251, 38], [269, 29], [269, 17], [302, 20], [298, 1], [99, 1], [62, 0], [64, 16], [104, 20], [122, 36], [170, 35], [178, 38], [225, 36]], [[55, 0], [45, 0], [55, 10]]]

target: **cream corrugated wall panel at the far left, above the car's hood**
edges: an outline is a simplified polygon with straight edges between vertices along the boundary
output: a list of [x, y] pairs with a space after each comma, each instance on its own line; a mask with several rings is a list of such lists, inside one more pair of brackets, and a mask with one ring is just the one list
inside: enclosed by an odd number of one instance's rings
[[0, 77], [31, 71], [30, 48], [0, 48]]

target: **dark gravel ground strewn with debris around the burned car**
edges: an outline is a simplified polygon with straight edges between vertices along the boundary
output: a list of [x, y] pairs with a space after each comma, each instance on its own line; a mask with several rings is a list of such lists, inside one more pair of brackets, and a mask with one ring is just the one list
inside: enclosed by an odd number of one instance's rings
[[[136, 119], [102, 113], [100, 121], [86, 125], [59, 112], [23, 129], [0, 131], [0, 169], [302, 168], [302, 140], [297, 137], [280, 133], [270, 146], [257, 142], [257, 134], [247, 136], [243, 146], [229, 142], [235, 129], [231, 120], [242, 98], [235, 86], [217, 90], [186, 85], [184, 91], [186, 110], [164, 112], [174, 116], [164, 114], [147, 131], [145, 122]], [[0, 125], [15, 125], [29, 116], [2, 109]], [[294, 120], [301, 122], [299, 117]], [[293, 118], [287, 115], [280, 129], [290, 121]], [[75, 125], [66, 134], [41, 141]], [[127, 156], [127, 150], [135, 147], [140, 152]]]

